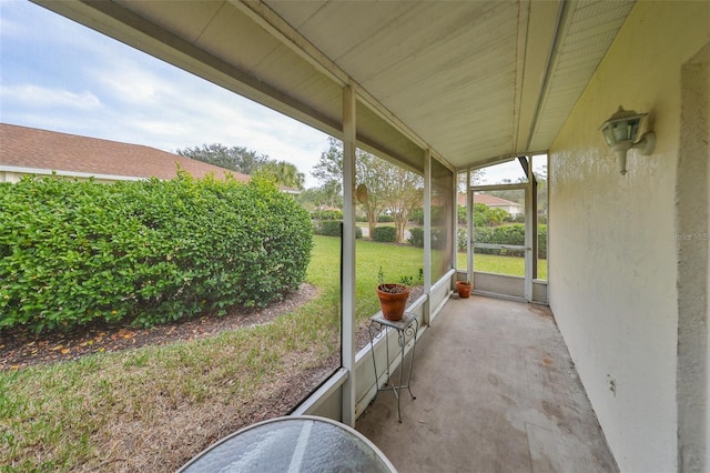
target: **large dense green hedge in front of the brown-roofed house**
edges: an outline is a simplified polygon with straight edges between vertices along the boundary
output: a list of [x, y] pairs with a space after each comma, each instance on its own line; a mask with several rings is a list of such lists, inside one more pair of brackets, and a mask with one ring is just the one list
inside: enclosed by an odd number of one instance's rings
[[263, 306], [298, 288], [313, 245], [307, 212], [274, 185], [184, 173], [2, 184], [0, 221], [0, 330]]

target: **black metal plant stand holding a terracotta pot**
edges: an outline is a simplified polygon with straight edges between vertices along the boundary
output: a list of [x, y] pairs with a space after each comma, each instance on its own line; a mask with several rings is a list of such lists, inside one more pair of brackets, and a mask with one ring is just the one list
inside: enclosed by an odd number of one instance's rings
[[[378, 324], [379, 330], [376, 330], [375, 335], [373, 336], [374, 324]], [[390, 384], [389, 386], [387, 386], [387, 384], [390, 383], [389, 338], [386, 336], [389, 329], [397, 331], [397, 342], [399, 343], [399, 353], [402, 354], [402, 364], [399, 365], [399, 384], [397, 385]], [[412, 369], [414, 368], [414, 351], [416, 350], [416, 346], [417, 346], [418, 331], [419, 331], [419, 321], [417, 320], [417, 316], [415, 313], [405, 312], [405, 314], [402, 316], [402, 320], [397, 320], [397, 321], [387, 320], [382, 315], [382, 313], [378, 313], [377, 315], [373, 315], [369, 318], [369, 329], [368, 329], [369, 346], [373, 353], [373, 368], [375, 369], [375, 385], [377, 386], [377, 392], [392, 391], [395, 393], [395, 396], [397, 397], [397, 416], [400, 423], [402, 423], [402, 410], [399, 409], [399, 401], [400, 401], [402, 389], [406, 388], [407, 391], [409, 391], [409, 395], [412, 396], [412, 399], [416, 399], [416, 396], [412, 393], [410, 381], [412, 381]], [[382, 336], [385, 336], [385, 345], [387, 350], [387, 382], [385, 383], [385, 386], [387, 388], [379, 388], [379, 383], [378, 383], [379, 376], [377, 375], [377, 363], [375, 362], [375, 340]], [[409, 338], [410, 340], [414, 340], [414, 345], [412, 346], [412, 356], [409, 358], [409, 371], [407, 373], [406, 384], [403, 384], [404, 349], [407, 344], [407, 338]]]

